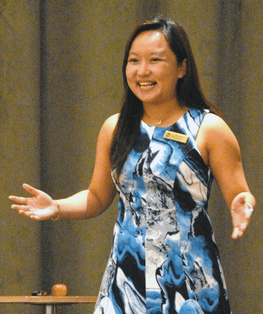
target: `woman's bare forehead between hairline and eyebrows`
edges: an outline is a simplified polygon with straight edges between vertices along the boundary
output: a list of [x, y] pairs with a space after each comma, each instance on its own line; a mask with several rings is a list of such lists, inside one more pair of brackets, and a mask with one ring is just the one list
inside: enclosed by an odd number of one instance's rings
[[159, 30], [146, 30], [134, 38], [129, 53], [138, 52], [173, 53], [164, 34]]

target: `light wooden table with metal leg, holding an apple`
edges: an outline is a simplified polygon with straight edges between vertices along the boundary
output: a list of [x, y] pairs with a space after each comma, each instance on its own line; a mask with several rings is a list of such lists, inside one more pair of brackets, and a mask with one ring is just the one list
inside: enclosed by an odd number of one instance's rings
[[11, 295], [0, 296], [0, 303], [29, 303], [43, 304], [46, 314], [55, 314], [56, 305], [73, 303], [95, 303], [96, 296], [29, 296], [29, 295]]

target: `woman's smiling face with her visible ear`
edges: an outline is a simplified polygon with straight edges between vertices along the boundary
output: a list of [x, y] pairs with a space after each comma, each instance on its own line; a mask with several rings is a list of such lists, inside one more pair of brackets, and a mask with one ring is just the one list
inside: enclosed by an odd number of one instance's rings
[[130, 89], [143, 104], [177, 102], [176, 84], [185, 70], [186, 61], [178, 66], [160, 31], [148, 30], [135, 37], [129, 51], [126, 77]]

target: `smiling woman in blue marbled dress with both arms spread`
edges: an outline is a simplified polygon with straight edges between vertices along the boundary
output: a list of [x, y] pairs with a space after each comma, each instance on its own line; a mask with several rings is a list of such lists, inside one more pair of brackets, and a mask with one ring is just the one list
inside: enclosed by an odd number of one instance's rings
[[213, 177], [243, 235], [255, 199], [235, 136], [205, 100], [184, 30], [168, 19], [140, 24], [123, 63], [120, 114], [101, 128], [87, 190], [57, 201], [24, 184], [10, 196], [32, 220], [87, 219], [119, 193], [113, 248], [95, 313], [230, 313], [207, 215]]

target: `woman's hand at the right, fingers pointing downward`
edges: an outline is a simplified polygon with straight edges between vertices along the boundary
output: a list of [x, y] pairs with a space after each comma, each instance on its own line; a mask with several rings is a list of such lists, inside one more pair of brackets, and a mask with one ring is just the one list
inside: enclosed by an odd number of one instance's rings
[[238, 194], [232, 202], [231, 215], [234, 227], [232, 239], [243, 236], [253, 212], [253, 207], [247, 201], [246, 194]]

